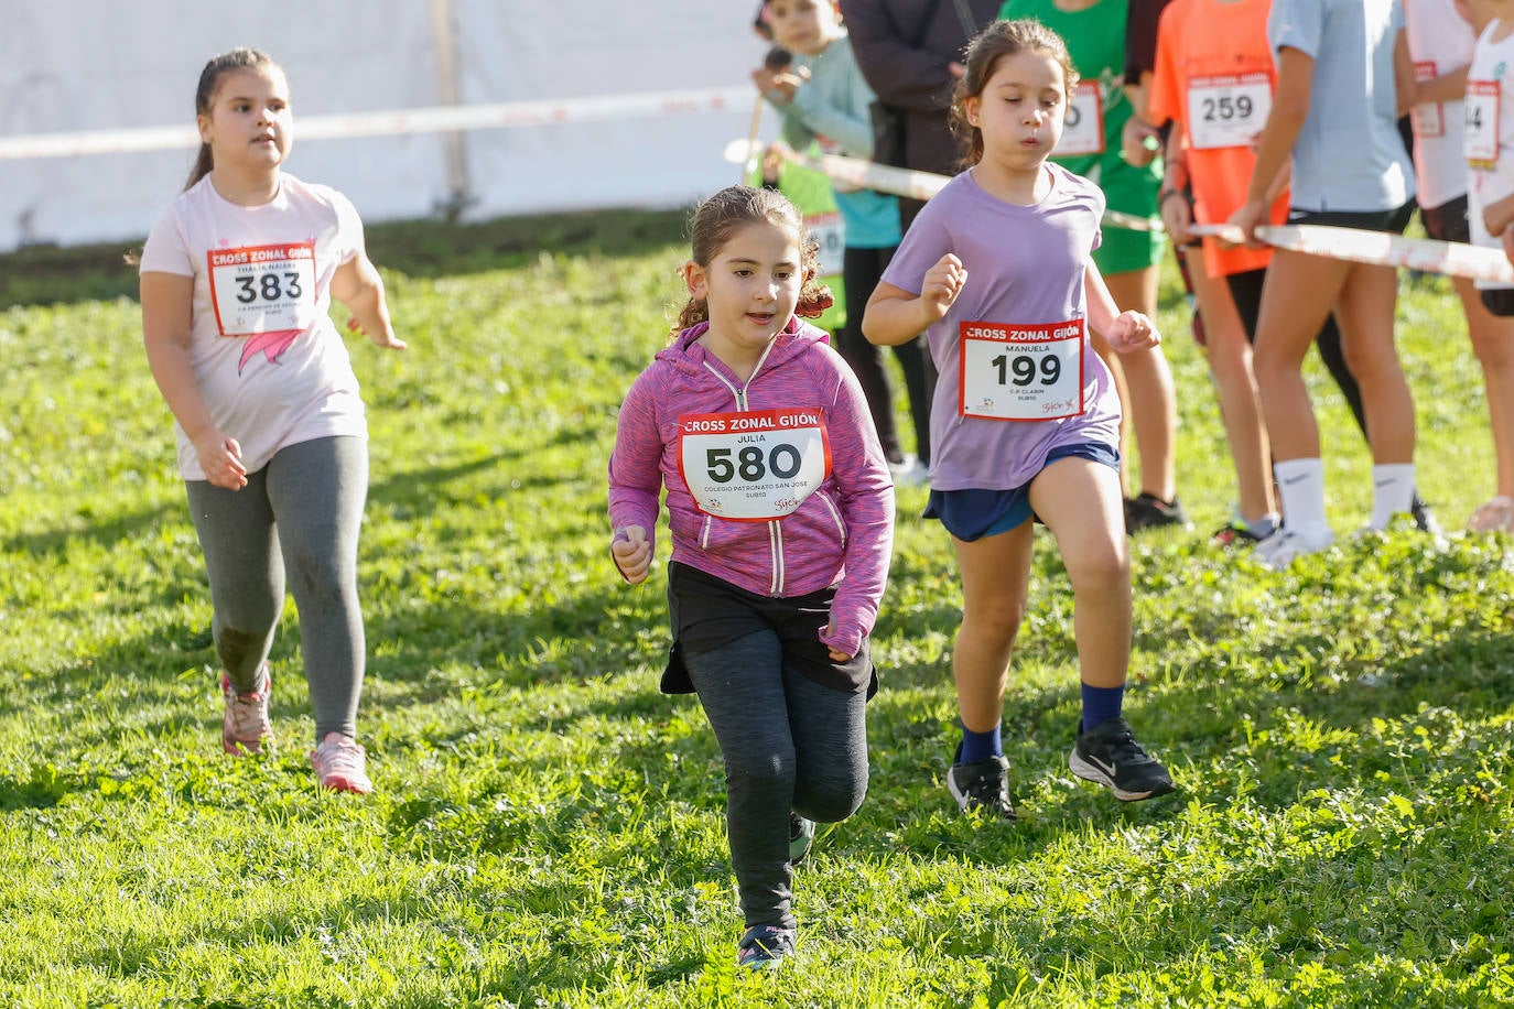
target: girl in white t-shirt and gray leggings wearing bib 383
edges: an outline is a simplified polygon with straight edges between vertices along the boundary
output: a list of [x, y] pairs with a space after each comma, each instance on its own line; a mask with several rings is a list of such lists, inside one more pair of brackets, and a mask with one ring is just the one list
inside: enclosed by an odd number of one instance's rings
[[351, 203], [280, 171], [294, 138], [279, 65], [250, 48], [212, 59], [195, 123], [198, 160], [142, 250], [142, 336], [210, 581], [221, 744], [273, 744], [268, 650], [288, 569], [315, 709], [310, 762], [322, 787], [368, 793], [354, 738], [368, 430], [330, 300], [378, 346], [404, 342]]

